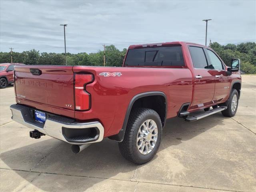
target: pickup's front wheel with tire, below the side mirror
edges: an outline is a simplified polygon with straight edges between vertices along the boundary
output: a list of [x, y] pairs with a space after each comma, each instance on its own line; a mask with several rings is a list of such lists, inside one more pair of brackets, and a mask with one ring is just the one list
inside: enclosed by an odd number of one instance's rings
[[236, 89], [232, 89], [232, 92], [230, 94], [228, 108], [224, 111], [222, 111], [222, 115], [226, 117], [232, 117], [236, 114], [237, 108], [238, 108], [238, 92]]

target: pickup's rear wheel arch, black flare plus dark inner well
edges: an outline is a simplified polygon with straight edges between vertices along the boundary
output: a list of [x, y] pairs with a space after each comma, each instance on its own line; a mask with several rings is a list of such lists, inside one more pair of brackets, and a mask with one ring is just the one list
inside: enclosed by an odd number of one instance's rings
[[[156, 103], [159, 104], [159, 102], [160, 102], [160, 105], [156, 105], [154, 102], [153, 103], [149, 102], [149, 101], [152, 101], [153, 99], [157, 99]], [[164, 105], [164, 109], [161, 110], [162, 105]], [[118, 134], [110, 136], [108, 138], [118, 141], [118, 142], [122, 142], [124, 140], [124, 134], [126, 131], [126, 126], [128, 123], [128, 119], [130, 117], [130, 113], [132, 111], [132, 108], [137, 107], [137, 106], [151, 108], [151, 109], [155, 110], [159, 114], [159, 116], [161, 118], [162, 126], [164, 127], [165, 122], [166, 122], [166, 114], [167, 114], [166, 94], [164, 94], [164, 92], [160, 92], [160, 91], [144, 92], [144, 93], [137, 94], [130, 100], [130, 103], [126, 110], [126, 114], [124, 117], [124, 122], [123, 122], [123, 126], [122, 126], [121, 130], [119, 131]], [[158, 107], [154, 107], [154, 106], [158, 106]]]

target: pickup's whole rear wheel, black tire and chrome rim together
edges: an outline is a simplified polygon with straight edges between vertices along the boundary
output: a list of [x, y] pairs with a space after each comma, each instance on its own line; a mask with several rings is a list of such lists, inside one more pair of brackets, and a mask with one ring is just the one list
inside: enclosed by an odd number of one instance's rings
[[162, 122], [158, 113], [148, 108], [136, 108], [130, 114], [124, 140], [118, 146], [124, 158], [144, 164], [155, 156], [161, 138]]

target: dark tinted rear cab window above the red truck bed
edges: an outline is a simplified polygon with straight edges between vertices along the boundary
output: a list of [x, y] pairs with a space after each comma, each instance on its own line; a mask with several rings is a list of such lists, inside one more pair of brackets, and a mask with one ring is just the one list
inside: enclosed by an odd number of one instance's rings
[[185, 66], [181, 46], [128, 50], [125, 66]]

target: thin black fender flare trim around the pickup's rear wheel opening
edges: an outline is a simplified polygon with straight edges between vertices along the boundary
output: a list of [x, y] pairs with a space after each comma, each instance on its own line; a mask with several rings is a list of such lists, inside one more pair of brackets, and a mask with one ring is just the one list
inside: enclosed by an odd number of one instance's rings
[[140, 98], [143, 98], [143, 97], [147, 97], [147, 96], [163, 96], [164, 99], [165, 99], [165, 118], [164, 118], [164, 124], [163, 124], [163, 127], [165, 125], [165, 122], [166, 122], [166, 115], [167, 115], [167, 97], [166, 97], [166, 94], [164, 94], [164, 92], [160, 92], [160, 91], [152, 91], [152, 92], [144, 92], [144, 93], [140, 93], [140, 94], [137, 94], [136, 96], [134, 96], [131, 100], [130, 100], [130, 103], [127, 107], [127, 110], [126, 110], [126, 114], [125, 114], [125, 117], [124, 117], [124, 122], [123, 122], [123, 126], [121, 128], [121, 130], [119, 131], [118, 134], [116, 135], [113, 135], [113, 136], [109, 136], [108, 138], [112, 139], [112, 140], [115, 140], [115, 141], [118, 141], [118, 142], [122, 142], [124, 140], [124, 134], [125, 134], [125, 131], [126, 131], [126, 126], [127, 126], [127, 123], [128, 123], [128, 119], [129, 119], [129, 116], [130, 116], [130, 112], [132, 110], [132, 106], [133, 104], [136, 102], [136, 100], [140, 99]]

